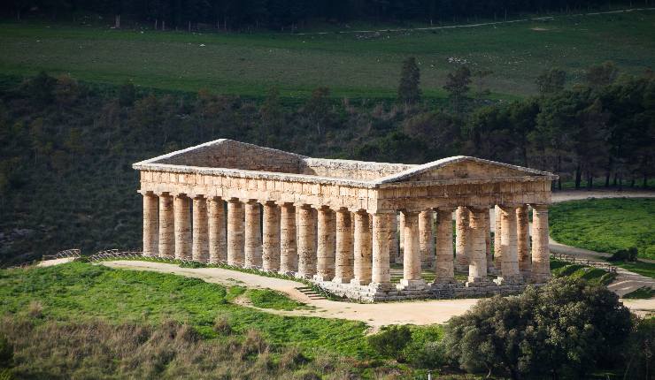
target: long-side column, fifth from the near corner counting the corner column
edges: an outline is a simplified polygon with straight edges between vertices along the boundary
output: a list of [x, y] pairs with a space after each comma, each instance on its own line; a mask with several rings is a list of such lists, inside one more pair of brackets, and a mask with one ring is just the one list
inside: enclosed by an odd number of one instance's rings
[[316, 274], [316, 229], [312, 207], [304, 204], [298, 214], [298, 277], [312, 278]]

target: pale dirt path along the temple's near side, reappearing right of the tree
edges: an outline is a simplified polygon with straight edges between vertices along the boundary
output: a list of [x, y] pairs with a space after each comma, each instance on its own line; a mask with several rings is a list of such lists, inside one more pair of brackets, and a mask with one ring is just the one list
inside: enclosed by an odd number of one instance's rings
[[[220, 285], [246, 285], [254, 288], [268, 288], [285, 293], [289, 298], [313, 306], [312, 310], [270, 310], [257, 308], [276, 315], [320, 316], [323, 318], [340, 318], [367, 323], [374, 330], [388, 324], [434, 324], [445, 323], [452, 316], [462, 315], [473, 307], [477, 299], [466, 300], [415, 300], [389, 303], [351, 303], [334, 300], [313, 300], [298, 291], [304, 285], [296, 281], [274, 277], [258, 276], [236, 270], [220, 268], [180, 268], [175, 264], [163, 262], [136, 262], [119, 260], [101, 262], [111, 268], [121, 270], [151, 270], [160, 273], [173, 273], [186, 277], [201, 278], [206, 282]], [[240, 302], [250, 307], [249, 302]], [[655, 300], [624, 300], [628, 308], [638, 314], [655, 310]]]

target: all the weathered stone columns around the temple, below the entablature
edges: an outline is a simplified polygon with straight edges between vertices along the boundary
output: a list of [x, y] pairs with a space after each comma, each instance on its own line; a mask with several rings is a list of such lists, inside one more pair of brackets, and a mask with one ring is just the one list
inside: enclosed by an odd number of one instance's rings
[[[455, 282], [455, 270], [468, 270], [469, 285], [487, 282], [489, 270], [495, 268], [503, 283], [518, 283], [525, 277], [543, 281], [550, 276], [546, 206], [533, 206], [531, 255], [528, 207], [497, 206], [495, 263], [489, 249], [489, 209], [483, 208], [456, 209], [453, 260], [454, 210], [401, 211], [401, 289], [424, 285], [421, 268], [426, 264], [434, 266], [437, 283]], [[351, 213], [233, 198], [227, 201], [226, 216], [218, 197], [143, 195], [144, 255], [227, 262], [342, 284], [389, 286], [389, 258], [396, 255], [397, 229], [393, 211]]]

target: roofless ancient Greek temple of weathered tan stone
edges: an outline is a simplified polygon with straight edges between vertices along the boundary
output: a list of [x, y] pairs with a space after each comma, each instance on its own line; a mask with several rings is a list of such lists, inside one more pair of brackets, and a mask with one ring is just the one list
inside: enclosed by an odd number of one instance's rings
[[550, 277], [549, 172], [469, 156], [312, 158], [230, 140], [133, 167], [143, 255], [280, 272], [367, 301], [515, 293]]

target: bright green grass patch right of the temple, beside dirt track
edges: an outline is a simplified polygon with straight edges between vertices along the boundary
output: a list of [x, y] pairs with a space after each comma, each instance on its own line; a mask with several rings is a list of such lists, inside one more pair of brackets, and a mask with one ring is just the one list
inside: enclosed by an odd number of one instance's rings
[[655, 259], [655, 199], [566, 201], [550, 214], [551, 237], [562, 244], [607, 253], [636, 247]]

